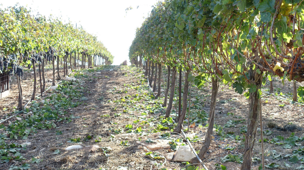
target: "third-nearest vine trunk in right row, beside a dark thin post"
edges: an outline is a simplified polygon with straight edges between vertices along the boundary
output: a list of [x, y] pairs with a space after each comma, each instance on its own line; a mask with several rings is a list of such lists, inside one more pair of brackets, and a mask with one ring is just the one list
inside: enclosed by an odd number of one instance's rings
[[[180, 74], [181, 75], [181, 74]], [[187, 99], [188, 99], [188, 89], [189, 89], [189, 82], [188, 82], [188, 75], [189, 71], [185, 72], [185, 85], [184, 85], [184, 93], [183, 93], [183, 110], [181, 111], [181, 115], [178, 117], [178, 123], [174, 132], [180, 133], [181, 129], [183, 128], [183, 122], [186, 116], [187, 111]], [[180, 88], [181, 90], [181, 88]]]

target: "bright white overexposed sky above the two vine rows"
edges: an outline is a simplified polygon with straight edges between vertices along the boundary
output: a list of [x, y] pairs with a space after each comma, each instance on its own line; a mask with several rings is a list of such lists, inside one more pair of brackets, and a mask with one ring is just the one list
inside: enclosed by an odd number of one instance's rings
[[[129, 62], [129, 47], [134, 39], [136, 28], [140, 27], [157, 0], [0, 0], [2, 7], [19, 3], [32, 8], [42, 15], [50, 14], [82, 25], [90, 34], [95, 34], [99, 41], [114, 57], [113, 65], [124, 60]], [[132, 7], [132, 10], [125, 11]], [[137, 6], [139, 6], [137, 8]]]

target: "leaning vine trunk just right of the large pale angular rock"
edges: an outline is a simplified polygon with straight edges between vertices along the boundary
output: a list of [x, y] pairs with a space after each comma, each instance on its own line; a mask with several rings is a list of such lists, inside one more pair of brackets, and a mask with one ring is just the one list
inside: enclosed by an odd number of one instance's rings
[[[199, 150], [199, 158], [204, 159], [204, 155], [206, 154], [211, 140], [212, 140], [212, 130], [213, 130], [213, 125], [214, 125], [214, 110], [215, 110], [215, 105], [216, 105], [216, 97], [217, 97], [217, 92], [219, 90], [219, 81], [217, 78], [212, 77], [212, 90], [211, 90], [211, 103], [210, 103], [210, 111], [209, 111], [209, 125], [207, 129], [207, 134], [205, 136], [205, 141], [204, 144]], [[193, 158], [190, 160], [192, 163], [199, 163], [197, 158]]]

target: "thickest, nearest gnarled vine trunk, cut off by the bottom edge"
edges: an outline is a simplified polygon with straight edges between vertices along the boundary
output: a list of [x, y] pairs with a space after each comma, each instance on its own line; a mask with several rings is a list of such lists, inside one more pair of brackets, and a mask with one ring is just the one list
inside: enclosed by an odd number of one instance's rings
[[254, 142], [256, 142], [257, 135], [257, 120], [259, 114], [261, 113], [261, 96], [260, 89], [262, 84], [262, 73], [256, 73], [256, 70], [252, 71], [250, 69], [250, 81], [256, 85], [256, 91], [250, 93], [249, 100], [249, 114], [248, 114], [248, 123], [247, 123], [247, 133], [245, 135], [245, 149], [243, 154], [243, 164], [241, 170], [251, 169], [251, 158], [252, 150], [254, 147]]

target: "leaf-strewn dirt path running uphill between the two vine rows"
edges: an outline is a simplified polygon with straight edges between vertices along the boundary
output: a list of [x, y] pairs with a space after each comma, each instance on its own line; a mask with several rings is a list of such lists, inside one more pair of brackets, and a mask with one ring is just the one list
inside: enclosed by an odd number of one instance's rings
[[[147, 158], [144, 153], [148, 150], [143, 152], [137, 148], [140, 145], [138, 142], [140, 139], [144, 141], [148, 138], [158, 138], [151, 136], [154, 123], [150, 120], [151, 127], [149, 127], [149, 123], [147, 126], [145, 124], [147, 121], [143, 121], [150, 117], [154, 121], [156, 119], [148, 114], [143, 115], [142, 113], [146, 111], [140, 108], [139, 103], [150, 100], [149, 97], [152, 96], [146, 84], [143, 83], [142, 73], [132, 68], [105, 67], [101, 70], [91, 69], [75, 77], [83, 82], [80, 84], [85, 87], [85, 90], [78, 100], [82, 102], [81, 105], [67, 110], [65, 117], [72, 118], [71, 122], [59, 122], [56, 128], [38, 129], [37, 133], [28, 136], [26, 140], [12, 141], [19, 144], [31, 142], [31, 145], [19, 151], [26, 159], [25, 161], [13, 161], [4, 166], [9, 168], [14, 164], [14, 166], [21, 166], [22, 163], [28, 163], [31, 169], [117, 169], [119, 166], [128, 167], [128, 169], [150, 169], [159, 167], [150, 165], [153, 160]], [[145, 93], [138, 94], [138, 90]], [[148, 93], [150, 95], [147, 95]], [[148, 98], [143, 99], [144, 95]], [[154, 102], [160, 101], [148, 102], [154, 106]], [[133, 107], [135, 110], [130, 113]], [[144, 123], [139, 122], [135, 125], [134, 121], [139, 118]], [[134, 126], [130, 128], [131, 133], [127, 132], [126, 125]], [[142, 127], [143, 131], [150, 134], [135, 133], [136, 127]], [[121, 141], [128, 142], [126, 145], [121, 145]], [[70, 145], [81, 145], [82, 149], [64, 150]], [[101, 147], [111, 147], [112, 151], [106, 155]], [[33, 159], [39, 160], [37, 161], [39, 163], [31, 162]], [[171, 164], [167, 163], [166, 167], [180, 169], [179, 163], [172, 162]]]

